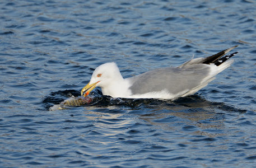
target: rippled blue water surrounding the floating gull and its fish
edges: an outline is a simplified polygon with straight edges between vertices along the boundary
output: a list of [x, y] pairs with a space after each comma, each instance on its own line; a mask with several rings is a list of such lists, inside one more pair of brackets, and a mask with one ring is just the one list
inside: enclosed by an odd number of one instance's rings
[[[254, 167], [256, 4], [1, 1], [0, 167]], [[112, 99], [50, 111], [94, 69], [124, 77], [239, 45], [196, 95]]]

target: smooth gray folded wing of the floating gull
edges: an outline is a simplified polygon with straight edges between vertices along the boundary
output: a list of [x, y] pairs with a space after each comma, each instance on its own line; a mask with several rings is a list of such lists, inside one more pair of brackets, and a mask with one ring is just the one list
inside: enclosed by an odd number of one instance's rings
[[204, 64], [194, 64], [186, 68], [161, 68], [128, 78], [132, 83], [129, 89], [132, 94], [146, 94], [147, 92], [168, 90], [171, 94], [178, 94], [184, 90], [191, 90], [202, 85], [202, 81], [209, 75], [210, 67]]

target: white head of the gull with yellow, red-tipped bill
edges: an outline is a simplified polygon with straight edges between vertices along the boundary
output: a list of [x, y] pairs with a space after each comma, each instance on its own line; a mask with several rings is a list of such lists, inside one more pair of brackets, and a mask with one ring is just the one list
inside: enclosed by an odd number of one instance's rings
[[111, 83], [118, 81], [120, 77], [123, 79], [117, 64], [114, 62], [102, 64], [92, 73], [91, 80], [82, 88], [81, 95], [89, 95], [95, 87], [101, 87], [101, 89], [108, 88], [111, 86]]

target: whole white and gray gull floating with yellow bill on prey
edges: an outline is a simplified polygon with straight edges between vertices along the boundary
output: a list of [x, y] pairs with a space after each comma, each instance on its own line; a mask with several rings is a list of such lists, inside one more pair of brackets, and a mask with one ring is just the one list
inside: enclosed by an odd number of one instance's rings
[[105, 63], [95, 69], [81, 95], [87, 96], [97, 86], [103, 95], [112, 97], [174, 99], [191, 95], [230, 66], [233, 60], [229, 58], [238, 52], [224, 55], [236, 46], [207, 58], [189, 60], [176, 68], [159, 68], [125, 79], [115, 63]]

